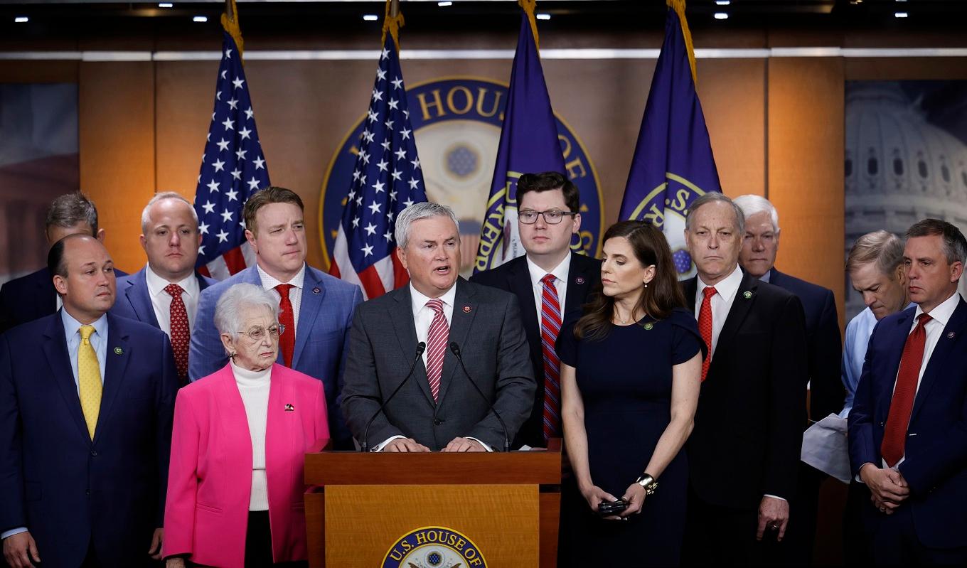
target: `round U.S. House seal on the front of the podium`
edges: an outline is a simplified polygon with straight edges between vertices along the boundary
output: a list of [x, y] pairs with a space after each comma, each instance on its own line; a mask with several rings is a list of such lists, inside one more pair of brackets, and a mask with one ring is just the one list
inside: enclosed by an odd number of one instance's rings
[[446, 526], [424, 526], [399, 537], [383, 558], [381, 568], [486, 568], [477, 545]]

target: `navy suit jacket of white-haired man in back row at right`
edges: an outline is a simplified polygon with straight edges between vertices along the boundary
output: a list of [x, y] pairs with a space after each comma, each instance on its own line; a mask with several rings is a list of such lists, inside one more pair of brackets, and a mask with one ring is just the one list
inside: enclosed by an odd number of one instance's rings
[[809, 357], [809, 417], [819, 421], [841, 411], [846, 390], [841, 379], [842, 337], [833, 291], [775, 268], [769, 283], [792, 292], [803, 302]]

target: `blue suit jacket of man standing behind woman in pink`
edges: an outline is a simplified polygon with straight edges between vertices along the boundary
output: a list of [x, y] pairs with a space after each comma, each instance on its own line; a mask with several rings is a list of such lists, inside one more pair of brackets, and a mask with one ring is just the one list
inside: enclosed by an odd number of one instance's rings
[[[215, 373], [228, 362], [219, 330], [215, 328], [215, 305], [228, 288], [243, 283], [262, 285], [256, 267], [242, 270], [201, 292], [191, 332], [188, 374], [192, 382]], [[353, 311], [362, 301], [359, 286], [306, 266], [292, 368], [322, 381], [329, 411], [329, 431], [337, 445], [350, 440], [349, 430], [339, 412], [337, 396], [342, 390], [342, 368]], [[280, 365], [285, 364], [281, 350], [277, 361]]]

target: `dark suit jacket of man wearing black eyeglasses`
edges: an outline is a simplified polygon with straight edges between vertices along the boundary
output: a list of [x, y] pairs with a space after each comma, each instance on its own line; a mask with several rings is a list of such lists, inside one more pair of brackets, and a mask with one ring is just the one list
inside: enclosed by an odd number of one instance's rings
[[[543, 447], [546, 442], [543, 439], [544, 374], [541, 326], [538, 306], [534, 303], [531, 272], [527, 269], [527, 257], [519, 256], [495, 269], [474, 274], [470, 281], [511, 292], [517, 297], [527, 343], [530, 345], [531, 366], [534, 369], [537, 390], [534, 393], [531, 415], [520, 427], [511, 447], [517, 448], [523, 444]], [[564, 298], [562, 319], [571, 321], [580, 318], [581, 306], [588, 301], [588, 294], [592, 290], [600, 289], [601, 260], [572, 252], [571, 268], [568, 270], [568, 295]]]

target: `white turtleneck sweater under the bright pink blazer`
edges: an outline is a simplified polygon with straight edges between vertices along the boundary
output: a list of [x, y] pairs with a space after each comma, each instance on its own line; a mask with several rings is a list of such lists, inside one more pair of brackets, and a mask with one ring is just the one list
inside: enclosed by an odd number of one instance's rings
[[265, 477], [265, 424], [269, 412], [269, 386], [272, 367], [264, 371], [249, 371], [235, 364], [232, 373], [242, 394], [245, 414], [249, 419], [251, 436], [251, 497], [249, 511], [269, 510], [269, 488]]

